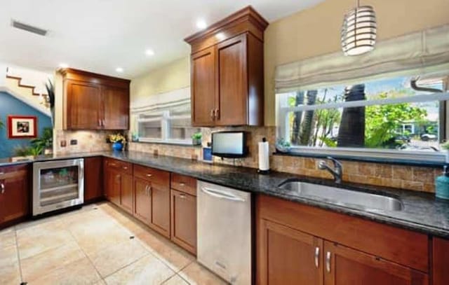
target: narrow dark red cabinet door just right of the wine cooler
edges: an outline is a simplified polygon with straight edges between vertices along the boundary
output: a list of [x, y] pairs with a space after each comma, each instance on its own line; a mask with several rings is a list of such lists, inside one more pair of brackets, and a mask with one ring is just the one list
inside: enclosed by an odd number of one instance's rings
[[84, 202], [103, 195], [103, 158], [84, 158]]

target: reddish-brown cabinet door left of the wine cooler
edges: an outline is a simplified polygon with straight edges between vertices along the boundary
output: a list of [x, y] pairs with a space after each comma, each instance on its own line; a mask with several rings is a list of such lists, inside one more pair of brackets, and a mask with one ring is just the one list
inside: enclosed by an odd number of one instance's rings
[[29, 214], [29, 184], [26, 167], [6, 172], [0, 179], [0, 223]]

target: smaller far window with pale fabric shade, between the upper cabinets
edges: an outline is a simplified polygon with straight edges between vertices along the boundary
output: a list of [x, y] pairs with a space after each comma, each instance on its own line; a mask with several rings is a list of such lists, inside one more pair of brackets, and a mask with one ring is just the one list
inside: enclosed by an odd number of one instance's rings
[[189, 89], [177, 92], [182, 93], [154, 96], [152, 102], [131, 109], [133, 137], [143, 142], [192, 144], [192, 135], [201, 129], [192, 127]]

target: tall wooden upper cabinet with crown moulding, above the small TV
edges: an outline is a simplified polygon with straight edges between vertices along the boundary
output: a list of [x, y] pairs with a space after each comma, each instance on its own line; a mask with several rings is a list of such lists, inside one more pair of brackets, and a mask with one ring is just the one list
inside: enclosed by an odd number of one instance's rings
[[185, 39], [192, 46], [193, 125], [263, 125], [267, 26], [248, 6]]

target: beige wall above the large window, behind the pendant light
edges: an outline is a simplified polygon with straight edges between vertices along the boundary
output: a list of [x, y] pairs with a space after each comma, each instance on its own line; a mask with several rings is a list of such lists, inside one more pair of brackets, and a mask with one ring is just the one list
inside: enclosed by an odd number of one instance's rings
[[[265, 125], [275, 124], [276, 65], [340, 50], [340, 26], [354, 0], [327, 0], [270, 23], [265, 32]], [[379, 40], [449, 23], [448, 0], [364, 0], [377, 13]]]

